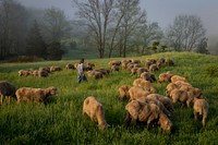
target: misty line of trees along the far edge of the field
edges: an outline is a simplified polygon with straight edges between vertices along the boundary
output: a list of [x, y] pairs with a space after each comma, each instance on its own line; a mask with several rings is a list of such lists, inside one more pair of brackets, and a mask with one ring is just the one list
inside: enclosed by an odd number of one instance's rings
[[99, 58], [169, 50], [208, 53], [198, 16], [178, 15], [164, 32], [147, 21], [140, 0], [73, 0], [73, 4], [76, 16], [70, 20], [58, 8], [33, 10], [15, 0], [0, 0], [0, 60], [17, 56], [60, 60], [75, 48], [94, 49]]

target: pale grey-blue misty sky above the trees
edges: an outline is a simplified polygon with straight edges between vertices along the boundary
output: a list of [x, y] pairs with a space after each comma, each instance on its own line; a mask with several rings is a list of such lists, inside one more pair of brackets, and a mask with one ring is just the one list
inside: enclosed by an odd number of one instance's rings
[[[25, 7], [56, 7], [72, 17], [74, 8], [72, 0], [16, 0]], [[141, 8], [147, 12], [149, 22], [158, 22], [166, 28], [173, 23], [175, 15], [194, 14], [202, 19], [207, 35], [218, 36], [218, 0], [141, 0]]]

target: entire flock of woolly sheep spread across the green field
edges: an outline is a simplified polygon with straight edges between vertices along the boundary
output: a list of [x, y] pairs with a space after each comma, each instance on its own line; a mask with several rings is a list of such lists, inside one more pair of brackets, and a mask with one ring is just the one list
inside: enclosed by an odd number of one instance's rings
[[[170, 59], [160, 58], [146, 59], [145, 67], [142, 67], [141, 60], [110, 61], [110, 69], [94, 70], [94, 63], [86, 63], [86, 74], [88, 77], [102, 78], [105, 75], [119, 71], [120, 68], [130, 71], [131, 75], [136, 75], [132, 85], [122, 85], [119, 87], [119, 98], [128, 99], [125, 106], [126, 117], [125, 125], [136, 125], [138, 122], [146, 123], [147, 126], [154, 124], [160, 125], [164, 131], [172, 130], [174, 104], [180, 101], [182, 106], [186, 104], [190, 107], [193, 104], [194, 117], [203, 116], [203, 126], [205, 126], [208, 114], [208, 102], [199, 88], [192, 86], [183, 76], [172, 74], [170, 71], [159, 74], [158, 78], [153, 74], [164, 65], [174, 65]], [[75, 69], [75, 64], [66, 64], [65, 69]], [[20, 70], [19, 75], [48, 76], [49, 73], [61, 71], [59, 67], [39, 68], [38, 70]], [[166, 87], [166, 95], [157, 94], [154, 83], [169, 83]], [[59, 96], [58, 88], [15, 88], [13, 84], [7, 81], [0, 81], [0, 105], [7, 97], [14, 97], [16, 102], [32, 101], [44, 102], [51, 95]], [[9, 97], [9, 98], [10, 98]], [[98, 123], [100, 130], [106, 130], [109, 124], [105, 118], [105, 109], [99, 100], [94, 96], [88, 96], [83, 102], [83, 114], [87, 114], [93, 121]]]

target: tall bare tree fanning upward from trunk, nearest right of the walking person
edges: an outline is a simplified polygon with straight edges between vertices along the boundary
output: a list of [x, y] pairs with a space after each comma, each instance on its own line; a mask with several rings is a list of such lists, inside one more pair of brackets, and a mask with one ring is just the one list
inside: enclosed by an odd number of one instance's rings
[[106, 35], [113, 2], [114, 0], [84, 0], [84, 2], [74, 0], [77, 15], [90, 29], [99, 58], [105, 57]]

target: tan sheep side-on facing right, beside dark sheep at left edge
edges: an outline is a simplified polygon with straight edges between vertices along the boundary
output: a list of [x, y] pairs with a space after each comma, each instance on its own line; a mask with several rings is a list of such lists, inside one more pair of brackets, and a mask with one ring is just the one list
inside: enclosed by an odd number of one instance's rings
[[45, 99], [47, 99], [51, 95], [59, 96], [59, 92], [56, 87], [47, 87], [47, 88], [33, 88], [33, 87], [21, 87], [15, 92], [16, 95], [16, 104], [20, 104], [22, 101], [27, 102], [45, 102]]

